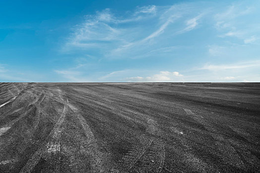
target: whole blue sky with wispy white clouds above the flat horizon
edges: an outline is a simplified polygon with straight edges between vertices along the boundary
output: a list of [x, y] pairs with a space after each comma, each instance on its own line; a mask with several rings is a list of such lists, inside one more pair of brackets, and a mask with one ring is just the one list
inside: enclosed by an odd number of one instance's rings
[[1, 0], [0, 82], [260, 82], [259, 0]]

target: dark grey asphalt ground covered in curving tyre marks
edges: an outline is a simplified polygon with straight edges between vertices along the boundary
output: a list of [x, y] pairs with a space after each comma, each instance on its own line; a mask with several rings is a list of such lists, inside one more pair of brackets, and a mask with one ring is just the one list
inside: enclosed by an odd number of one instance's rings
[[260, 84], [0, 84], [0, 173], [259, 170]]

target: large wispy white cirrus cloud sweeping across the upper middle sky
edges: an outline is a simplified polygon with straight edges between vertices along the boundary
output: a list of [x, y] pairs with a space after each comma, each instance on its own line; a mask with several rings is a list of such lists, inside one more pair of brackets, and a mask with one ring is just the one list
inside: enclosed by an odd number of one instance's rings
[[[136, 58], [153, 49], [174, 46], [175, 43], [169, 41], [173, 37], [172, 29], [176, 34], [189, 32], [195, 29], [202, 14], [194, 17], [173, 7], [136, 7], [125, 16], [118, 16], [113, 9], [107, 8], [86, 15], [85, 21], [75, 26], [62, 51], [89, 52], [95, 49], [105, 58]], [[186, 26], [181, 26], [182, 23]]]

